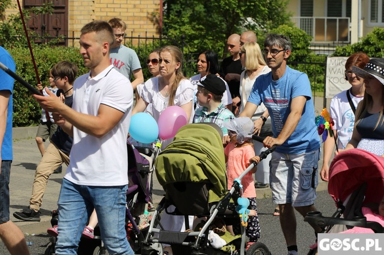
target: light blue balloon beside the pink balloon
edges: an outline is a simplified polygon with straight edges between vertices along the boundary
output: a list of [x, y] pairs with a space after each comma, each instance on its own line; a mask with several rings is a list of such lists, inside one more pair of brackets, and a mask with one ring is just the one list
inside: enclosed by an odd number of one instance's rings
[[150, 144], [158, 138], [159, 127], [151, 114], [138, 112], [131, 118], [129, 132], [136, 141]]

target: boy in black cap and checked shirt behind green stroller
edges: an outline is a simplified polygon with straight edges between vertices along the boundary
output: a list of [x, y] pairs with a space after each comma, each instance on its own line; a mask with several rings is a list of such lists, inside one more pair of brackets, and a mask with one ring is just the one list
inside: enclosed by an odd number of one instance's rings
[[202, 107], [196, 110], [194, 123], [215, 123], [221, 128], [224, 136], [228, 135], [228, 129], [224, 127], [223, 123], [233, 120], [234, 115], [221, 103], [226, 89], [224, 81], [220, 77], [210, 74], [201, 78], [197, 85], [196, 97]]

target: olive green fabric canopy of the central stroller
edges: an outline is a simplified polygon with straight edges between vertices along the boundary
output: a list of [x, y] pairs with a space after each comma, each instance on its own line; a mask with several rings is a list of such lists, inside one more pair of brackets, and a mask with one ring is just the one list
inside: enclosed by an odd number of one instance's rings
[[167, 184], [175, 182], [211, 183], [208, 202], [219, 201], [227, 192], [223, 143], [210, 125], [196, 123], [180, 128], [175, 140], [155, 160], [155, 166], [165, 192]]

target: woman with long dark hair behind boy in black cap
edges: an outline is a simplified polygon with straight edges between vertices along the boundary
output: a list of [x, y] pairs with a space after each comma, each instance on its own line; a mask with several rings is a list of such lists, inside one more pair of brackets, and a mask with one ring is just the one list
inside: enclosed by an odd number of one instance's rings
[[[197, 103], [197, 97], [196, 97], [197, 81], [200, 81], [200, 79], [202, 77], [209, 75], [209, 74], [216, 75], [220, 71], [220, 65], [219, 65], [219, 59], [218, 59], [217, 53], [212, 52], [212, 51], [204, 51], [204, 52], [200, 53], [199, 58], [197, 59], [197, 71], [199, 72], [198, 75], [195, 75], [195, 76], [192, 76], [191, 78], [189, 78], [189, 80], [195, 84], [195, 91], [194, 91], [194, 95], [195, 95], [194, 96], [194, 107], [195, 107], [195, 109], [197, 109], [199, 107], [199, 104]], [[228, 83], [226, 81], [224, 81], [224, 83], [225, 83], [225, 87], [227, 88], [227, 90], [225, 90], [225, 92], [223, 94], [223, 98], [221, 99], [221, 102], [229, 110], [232, 110], [232, 100], [231, 100], [231, 94], [229, 91]]]

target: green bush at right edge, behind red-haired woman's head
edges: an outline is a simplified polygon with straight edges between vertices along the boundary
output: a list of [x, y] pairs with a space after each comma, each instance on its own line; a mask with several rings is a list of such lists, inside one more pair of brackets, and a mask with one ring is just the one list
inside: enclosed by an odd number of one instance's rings
[[359, 42], [345, 47], [337, 47], [332, 56], [350, 56], [355, 52], [364, 52], [370, 57], [384, 57], [384, 28], [374, 28]]

